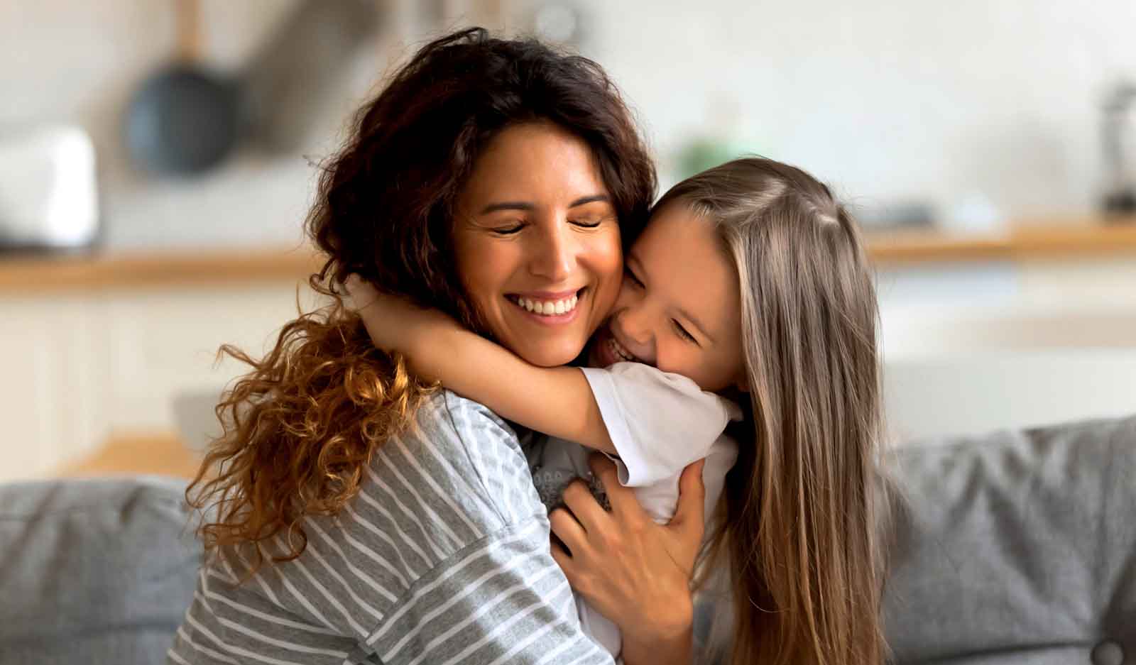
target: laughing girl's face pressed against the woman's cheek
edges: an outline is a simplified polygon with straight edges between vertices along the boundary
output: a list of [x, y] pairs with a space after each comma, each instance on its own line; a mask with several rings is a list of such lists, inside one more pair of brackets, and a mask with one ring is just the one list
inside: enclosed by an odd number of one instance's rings
[[712, 226], [676, 201], [651, 216], [627, 253], [590, 361], [646, 363], [703, 390], [745, 389], [740, 303], [737, 270]]

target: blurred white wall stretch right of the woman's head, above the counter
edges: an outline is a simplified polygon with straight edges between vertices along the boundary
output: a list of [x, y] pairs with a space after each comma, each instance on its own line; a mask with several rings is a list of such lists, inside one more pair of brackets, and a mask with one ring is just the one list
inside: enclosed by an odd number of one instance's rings
[[721, 126], [867, 205], [1093, 210], [1100, 100], [1136, 78], [1128, 0], [585, 5], [661, 154]]

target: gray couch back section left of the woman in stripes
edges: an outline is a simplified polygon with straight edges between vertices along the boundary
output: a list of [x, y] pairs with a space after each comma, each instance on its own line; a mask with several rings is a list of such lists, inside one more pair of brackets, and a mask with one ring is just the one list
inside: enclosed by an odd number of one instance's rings
[[184, 481], [0, 485], [0, 663], [160, 663], [201, 547]]

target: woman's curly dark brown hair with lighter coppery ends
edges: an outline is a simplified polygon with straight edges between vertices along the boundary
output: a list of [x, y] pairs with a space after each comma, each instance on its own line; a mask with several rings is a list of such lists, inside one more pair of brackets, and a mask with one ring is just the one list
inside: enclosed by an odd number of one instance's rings
[[[646, 221], [654, 166], [632, 115], [595, 62], [482, 28], [426, 44], [356, 116], [350, 138], [320, 175], [307, 230], [326, 254], [309, 279], [332, 304], [283, 327], [216, 409], [211, 445], [187, 500], [206, 515], [206, 548], [252, 549], [283, 534], [299, 556], [302, 519], [343, 508], [374, 452], [411, 421], [433, 388], [403, 359], [377, 351], [339, 285], [359, 275], [378, 291], [445, 311], [488, 336], [456, 271], [452, 218], [477, 157], [502, 129], [550, 121], [593, 151], [625, 244]], [[250, 571], [251, 573], [251, 571]]]

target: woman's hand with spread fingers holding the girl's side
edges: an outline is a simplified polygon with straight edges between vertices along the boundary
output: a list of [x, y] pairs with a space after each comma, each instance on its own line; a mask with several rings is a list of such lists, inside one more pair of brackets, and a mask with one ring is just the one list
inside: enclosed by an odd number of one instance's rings
[[[627, 663], [691, 662], [694, 605], [691, 578], [702, 544], [702, 465], [683, 472], [675, 516], [655, 524], [634, 493], [619, 483], [616, 465], [592, 455], [592, 471], [611, 502], [605, 512], [583, 481], [565, 490], [565, 504], [550, 520], [565, 547], [552, 557], [573, 589], [619, 626]], [[567, 548], [567, 550], [565, 549]]]

